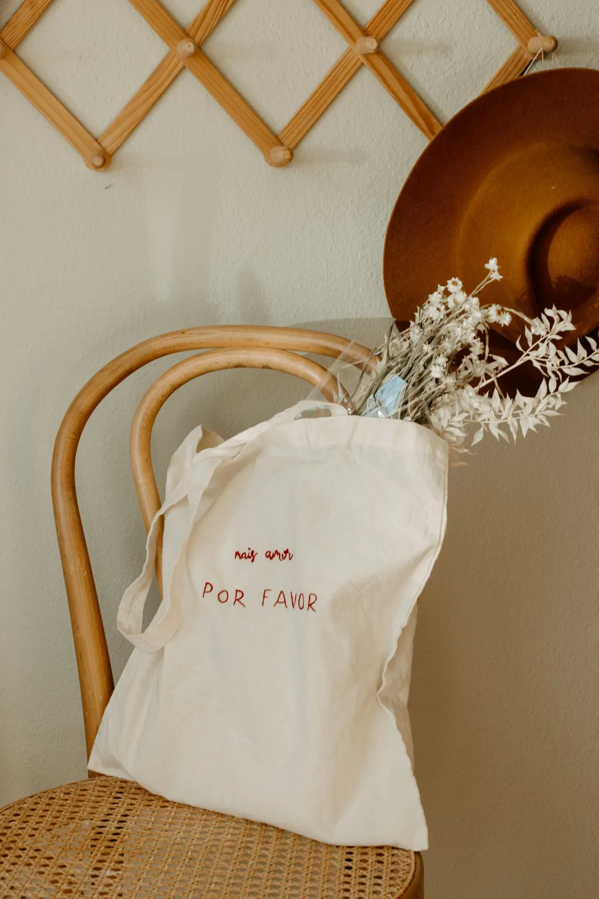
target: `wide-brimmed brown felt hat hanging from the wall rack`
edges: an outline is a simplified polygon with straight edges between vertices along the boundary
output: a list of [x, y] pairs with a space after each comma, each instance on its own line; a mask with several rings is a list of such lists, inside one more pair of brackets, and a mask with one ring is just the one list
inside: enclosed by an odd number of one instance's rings
[[[449, 278], [473, 289], [497, 256], [485, 303], [599, 325], [599, 71], [556, 69], [484, 94], [449, 121], [411, 171], [387, 228], [383, 280], [409, 320]], [[504, 329], [515, 340], [515, 328]]]

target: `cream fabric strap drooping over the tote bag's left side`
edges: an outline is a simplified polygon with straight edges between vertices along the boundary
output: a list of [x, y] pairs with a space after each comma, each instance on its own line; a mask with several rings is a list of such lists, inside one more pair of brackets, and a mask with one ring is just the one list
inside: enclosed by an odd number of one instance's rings
[[[155, 652], [157, 649], [162, 649], [179, 628], [181, 624], [181, 598], [187, 546], [194, 526], [203, 518], [215, 501], [216, 497], [210, 495], [206, 497], [205, 494], [210, 481], [216, 473], [216, 469], [225, 462], [236, 458], [242, 449], [248, 443], [260, 437], [260, 434], [269, 431], [277, 424], [293, 421], [305, 409], [315, 406], [329, 407], [332, 415], [347, 414], [347, 411], [339, 405], [304, 401], [292, 406], [290, 409], [286, 409], [283, 413], [275, 415], [268, 422], [254, 425], [254, 427], [237, 434], [231, 440], [225, 441], [213, 449], [195, 452], [198, 445], [198, 434], [201, 435], [202, 433], [201, 428], [196, 428], [195, 431], [192, 431], [189, 437], [181, 444], [180, 449], [177, 450], [172, 460], [173, 462], [178, 460], [180, 465], [181, 462], [183, 463], [184, 473], [177, 483], [172, 486], [172, 490], [165, 497], [163, 506], [154, 515], [147, 536], [144, 568], [137, 580], [125, 591], [120, 601], [117, 628], [119, 628], [123, 636], [127, 637], [129, 643], [144, 649], [145, 652]], [[154, 580], [158, 521], [160, 521], [165, 512], [176, 503], [181, 502], [186, 496], [189, 496], [190, 493], [193, 494], [194, 505], [190, 510], [189, 529], [181, 542], [181, 547], [179, 547], [172, 569], [171, 580], [166, 584], [163, 601], [154, 619], [143, 631], [145, 600]]]

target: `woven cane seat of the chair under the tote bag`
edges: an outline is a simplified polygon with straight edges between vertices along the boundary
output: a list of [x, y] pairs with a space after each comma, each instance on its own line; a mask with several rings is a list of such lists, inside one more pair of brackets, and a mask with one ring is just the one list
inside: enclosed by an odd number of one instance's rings
[[0, 811], [0, 896], [396, 899], [415, 855], [329, 846], [99, 777]]

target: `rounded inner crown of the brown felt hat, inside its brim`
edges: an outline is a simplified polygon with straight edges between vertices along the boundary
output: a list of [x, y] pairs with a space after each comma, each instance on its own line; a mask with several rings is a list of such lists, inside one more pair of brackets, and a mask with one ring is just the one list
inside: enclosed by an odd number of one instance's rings
[[[496, 165], [471, 197], [457, 271], [476, 284], [482, 265], [497, 256], [504, 278], [489, 287], [489, 302], [530, 317], [560, 303], [588, 330], [599, 324], [598, 227], [599, 154], [566, 142], [532, 144]], [[503, 329], [513, 340], [520, 333], [514, 321]]]

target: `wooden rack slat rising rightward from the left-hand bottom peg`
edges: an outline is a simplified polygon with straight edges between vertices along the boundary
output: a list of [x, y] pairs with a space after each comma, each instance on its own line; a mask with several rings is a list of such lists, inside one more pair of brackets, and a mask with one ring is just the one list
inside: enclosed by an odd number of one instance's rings
[[[235, 0], [208, 0], [208, 3], [190, 23], [187, 33], [197, 44], [207, 39], [225, 13], [233, 6]], [[98, 140], [102, 147], [112, 154], [116, 153], [120, 145], [127, 140], [131, 131], [145, 118], [152, 109], [154, 103], [160, 100], [164, 91], [172, 85], [175, 78], [185, 67], [178, 56], [169, 52], [162, 62], [154, 68], [151, 76], [146, 78], [144, 84], [129, 102], [119, 112], [119, 115], [110, 122]]]

